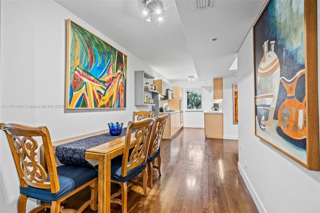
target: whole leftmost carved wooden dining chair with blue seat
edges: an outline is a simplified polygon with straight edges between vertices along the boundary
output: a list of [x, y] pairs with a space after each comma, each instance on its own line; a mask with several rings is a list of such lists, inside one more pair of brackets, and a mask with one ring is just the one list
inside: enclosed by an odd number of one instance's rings
[[[0, 123], [0, 129], [6, 134], [19, 176], [17, 212], [26, 211], [28, 197], [43, 201], [29, 212], [38, 212], [44, 208], [50, 208], [51, 213], [74, 212], [73, 209], [60, 206], [61, 202], [88, 185], [91, 188], [90, 199], [84, 202], [77, 212], [82, 212], [88, 205], [92, 210], [97, 209], [97, 171], [89, 167], [70, 165], [56, 167], [46, 126]], [[36, 138], [42, 139], [47, 171], [36, 158]]]

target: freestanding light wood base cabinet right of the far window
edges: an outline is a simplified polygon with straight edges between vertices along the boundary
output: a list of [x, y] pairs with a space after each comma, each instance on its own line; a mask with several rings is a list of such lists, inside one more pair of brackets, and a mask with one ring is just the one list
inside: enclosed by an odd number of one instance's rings
[[222, 112], [204, 112], [204, 134], [206, 138], [223, 138]]

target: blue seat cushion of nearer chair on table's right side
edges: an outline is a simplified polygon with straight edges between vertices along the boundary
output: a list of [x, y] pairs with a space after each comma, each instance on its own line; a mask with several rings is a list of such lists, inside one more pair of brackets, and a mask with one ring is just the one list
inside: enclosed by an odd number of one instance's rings
[[[119, 156], [114, 157], [111, 159], [111, 179], [119, 181], [119, 182], [126, 182], [140, 173], [145, 167], [146, 164], [140, 164], [134, 168], [127, 170], [126, 176], [121, 176], [121, 168], [122, 168], [122, 154]], [[128, 162], [129, 164], [129, 162]]]

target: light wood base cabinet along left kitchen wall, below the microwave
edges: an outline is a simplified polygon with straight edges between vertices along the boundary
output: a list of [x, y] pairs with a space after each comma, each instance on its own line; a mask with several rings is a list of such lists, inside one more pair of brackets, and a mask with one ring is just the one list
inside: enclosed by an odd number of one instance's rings
[[[163, 112], [165, 114], [165, 112]], [[180, 111], [168, 113], [169, 116], [165, 121], [162, 138], [170, 139], [176, 132], [180, 130]]]

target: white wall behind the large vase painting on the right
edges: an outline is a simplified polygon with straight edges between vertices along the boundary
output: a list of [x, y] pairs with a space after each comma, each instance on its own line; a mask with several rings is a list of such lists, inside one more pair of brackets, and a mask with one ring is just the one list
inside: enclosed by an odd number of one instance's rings
[[[318, 0], [318, 35], [319, 8]], [[254, 136], [252, 41], [250, 30], [238, 51], [238, 169], [260, 212], [320, 212], [320, 172], [307, 170]], [[318, 36], [318, 58], [319, 41]]]

